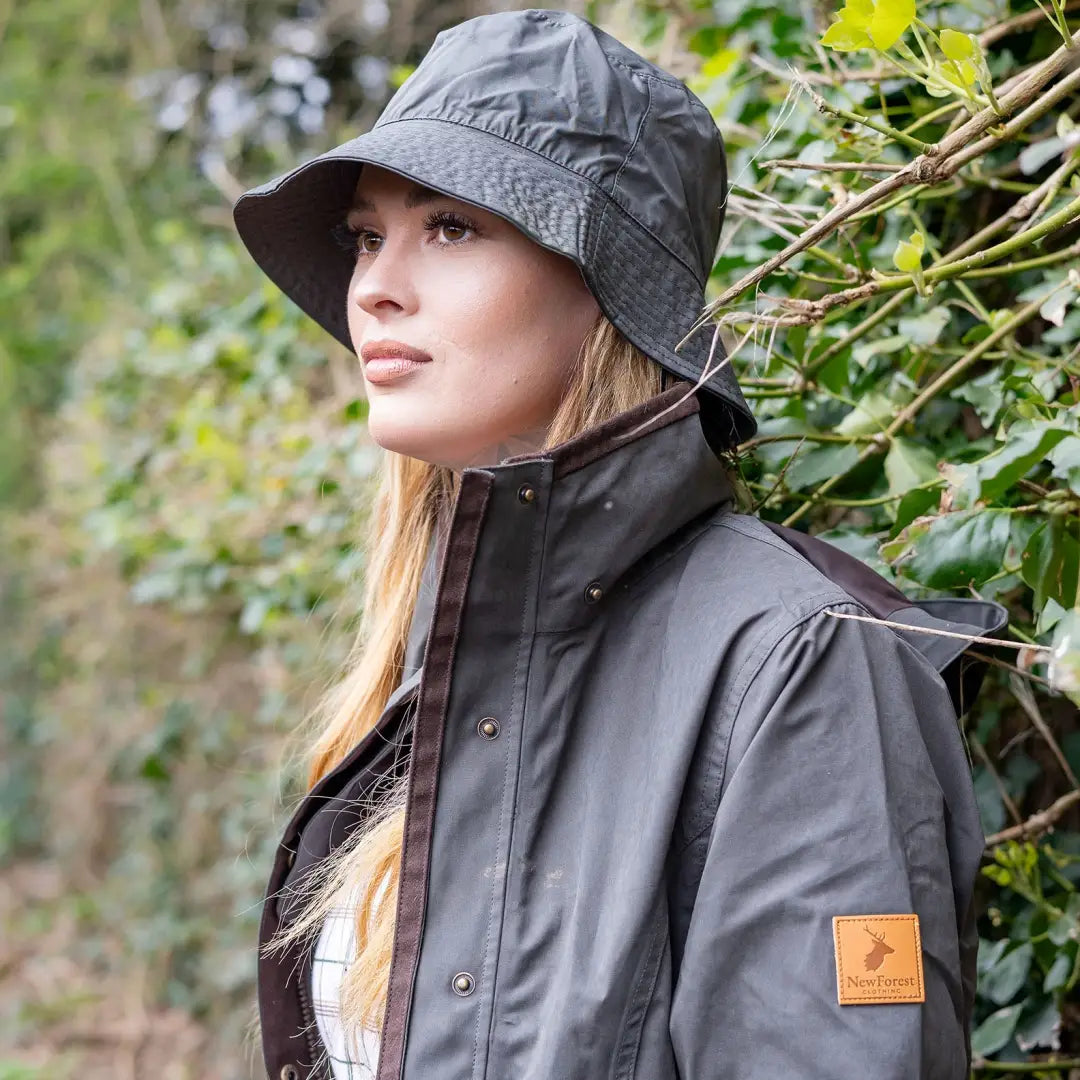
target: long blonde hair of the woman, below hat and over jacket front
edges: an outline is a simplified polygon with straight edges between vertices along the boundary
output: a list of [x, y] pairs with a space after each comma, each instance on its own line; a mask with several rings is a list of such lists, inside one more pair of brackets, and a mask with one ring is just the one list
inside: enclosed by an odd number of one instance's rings
[[[603, 315], [586, 335], [544, 448], [667, 389], [675, 377]], [[689, 388], [688, 388], [689, 392]], [[442, 465], [387, 453], [366, 538], [363, 616], [346, 674], [315, 706], [319, 731], [308, 784], [329, 772], [375, 726], [402, 678], [420, 577], [435, 529], [448, 515], [460, 476]], [[382, 1024], [397, 901], [407, 775], [368, 796], [364, 820], [309, 874], [291, 903], [299, 915], [266, 946], [286, 951], [318, 936], [329, 910], [355, 904], [355, 956], [341, 982], [341, 1021], [353, 1042]]]

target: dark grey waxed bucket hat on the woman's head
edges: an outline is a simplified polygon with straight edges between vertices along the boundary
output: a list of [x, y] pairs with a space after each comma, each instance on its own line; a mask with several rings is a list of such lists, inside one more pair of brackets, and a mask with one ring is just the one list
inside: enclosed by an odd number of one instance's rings
[[[567, 12], [481, 15], [444, 30], [375, 126], [245, 192], [240, 238], [302, 311], [352, 349], [353, 260], [334, 226], [364, 163], [507, 218], [571, 258], [607, 318], [697, 382], [713, 334], [677, 352], [704, 303], [727, 165], [708, 110], [677, 79]], [[717, 339], [702, 423], [731, 446], [756, 424]]]

